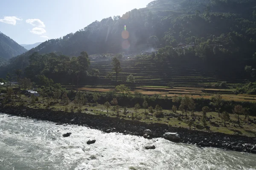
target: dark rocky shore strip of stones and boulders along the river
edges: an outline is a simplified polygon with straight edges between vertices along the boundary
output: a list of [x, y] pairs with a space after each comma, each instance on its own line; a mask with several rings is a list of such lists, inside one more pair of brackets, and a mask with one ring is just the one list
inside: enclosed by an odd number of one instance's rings
[[[112, 118], [107, 116], [92, 115], [87, 113], [65, 113], [64, 111], [50, 111], [26, 107], [0, 107], [1, 113], [23, 116], [32, 119], [41, 119], [56, 122], [56, 125], [76, 124], [102, 130], [106, 133], [119, 132], [143, 136], [144, 130], [151, 130], [150, 137], [165, 137], [168, 132], [177, 133], [179, 138], [175, 142], [195, 144], [198, 147], [218, 147], [224, 150], [256, 153], [256, 138], [227, 135], [224, 133], [208, 133], [186, 128], [170, 127], [163, 124], [146, 124], [143, 122]], [[164, 136], [163, 136], [164, 135]], [[146, 137], [144, 135], [144, 137]], [[169, 139], [172, 140], [172, 139]]]

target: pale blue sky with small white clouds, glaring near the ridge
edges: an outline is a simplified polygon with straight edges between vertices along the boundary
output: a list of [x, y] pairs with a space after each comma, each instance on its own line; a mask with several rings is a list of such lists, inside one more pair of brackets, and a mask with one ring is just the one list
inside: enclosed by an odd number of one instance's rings
[[152, 0], [1, 0], [0, 32], [18, 44], [75, 33], [103, 18], [145, 8]]

